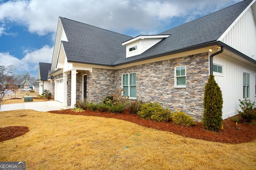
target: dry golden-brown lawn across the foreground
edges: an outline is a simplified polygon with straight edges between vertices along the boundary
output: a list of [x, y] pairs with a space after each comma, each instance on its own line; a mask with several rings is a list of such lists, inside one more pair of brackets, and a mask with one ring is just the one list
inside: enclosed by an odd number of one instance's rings
[[0, 161], [26, 161], [28, 170], [256, 169], [256, 140], [216, 143], [120, 119], [33, 110], [0, 112], [0, 127], [8, 126], [29, 131], [0, 142]]

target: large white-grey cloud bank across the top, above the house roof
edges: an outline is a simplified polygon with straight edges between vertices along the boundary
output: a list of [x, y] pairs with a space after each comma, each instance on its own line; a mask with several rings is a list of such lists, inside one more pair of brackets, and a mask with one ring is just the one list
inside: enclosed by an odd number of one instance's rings
[[38, 35], [56, 31], [62, 16], [90, 25], [123, 32], [151, 31], [172, 17], [208, 14], [241, 0], [15, 0], [0, 4], [0, 21], [25, 25]]

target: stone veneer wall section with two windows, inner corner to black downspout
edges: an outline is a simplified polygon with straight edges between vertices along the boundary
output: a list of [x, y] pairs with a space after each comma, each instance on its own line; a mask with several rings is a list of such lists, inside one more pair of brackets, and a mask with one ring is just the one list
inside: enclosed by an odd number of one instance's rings
[[[174, 67], [186, 65], [186, 88], [175, 88]], [[180, 57], [116, 70], [116, 84], [122, 74], [136, 72], [136, 98], [160, 102], [171, 110], [184, 111], [202, 120], [204, 86], [208, 81], [208, 53]]]

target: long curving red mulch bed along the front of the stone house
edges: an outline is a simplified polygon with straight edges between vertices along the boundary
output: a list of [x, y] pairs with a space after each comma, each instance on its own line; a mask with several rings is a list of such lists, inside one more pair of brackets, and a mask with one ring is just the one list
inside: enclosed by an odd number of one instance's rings
[[[231, 118], [225, 119], [222, 123], [223, 129], [219, 133], [206, 131], [202, 125], [202, 122], [197, 122], [194, 127], [183, 127], [176, 125], [172, 121], [168, 122], [154, 122], [148, 119], [142, 119], [136, 114], [129, 113], [128, 110], [123, 113], [109, 113], [100, 111], [83, 111], [74, 112], [72, 109], [49, 111], [50, 113], [58, 114], [70, 114], [70, 115], [86, 115], [86, 116], [99, 116], [99, 117], [110, 117], [116, 119], [122, 119], [130, 121], [144, 127], [150, 127], [161, 131], [169, 131], [177, 135], [184, 137], [190, 137], [194, 139], [202, 139], [206, 141], [221, 142], [221, 143], [246, 143], [256, 139], [256, 125], [252, 123], [243, 123], [244, 121], [237, 115], [240, 123], [236, 125]], [[254, 120], [254, 122], [256, 122]]]

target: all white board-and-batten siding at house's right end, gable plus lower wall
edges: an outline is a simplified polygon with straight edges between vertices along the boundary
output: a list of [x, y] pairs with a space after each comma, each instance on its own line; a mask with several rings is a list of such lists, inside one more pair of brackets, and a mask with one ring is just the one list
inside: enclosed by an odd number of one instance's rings
[[[252, 8], [248, 8], [218, 39], [256, 60], [256, 21]], [[214, 72], [215, 80], [222, 90], [223, 119], [237, 115], [237, 109], [243, 100], [243, 73], [250, 74], [250, 100], [256, 102], [256, 68], [248, 66], [225, 56], [223, 53], [214, 56], [215, 64], [223, 66], [223, 74]]]

